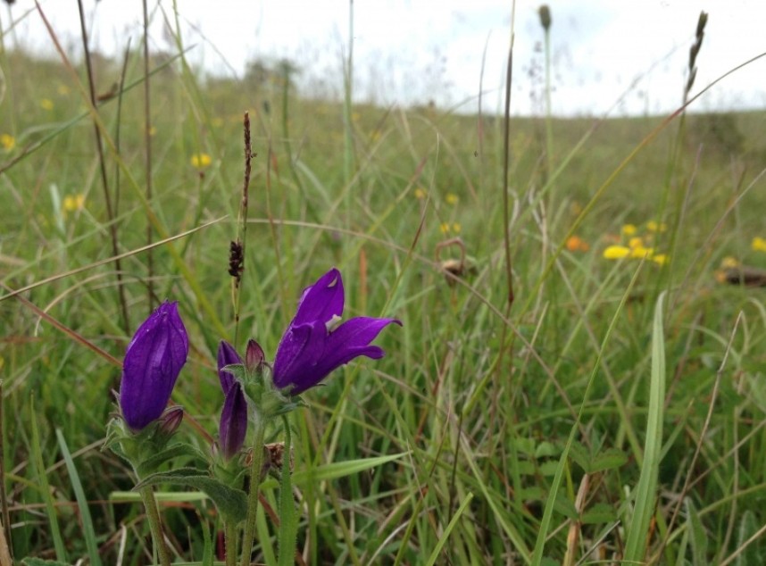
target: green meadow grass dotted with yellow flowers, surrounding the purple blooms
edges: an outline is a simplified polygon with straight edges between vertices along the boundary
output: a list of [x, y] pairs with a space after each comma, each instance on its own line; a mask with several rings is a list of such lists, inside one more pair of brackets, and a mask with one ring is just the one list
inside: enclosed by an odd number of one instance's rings
[[[153, 62], [146, 199], [138, 54], [97, 112], [79, 63], [4, 51], [0, 66], [3, 522], [17, 560], [151, 561], [132, 472], [100, 446], [120, 379], [105, 354], [119, 364], [153, 304], [179, 301], [191, 354], [173, 400], [214, 434], [218, 341], [255, 337], [273, 356], [330, 266], [350, 316], [404, 327], [379, 337], [383, 360], [337, 370], [291, 417], [305, 563], [766, 558], [763, 292], [716, 279], [727, 256], [766, 259], [751, 249], [766, 230], [762, 112], [512, 119], [504, 225], [502, 117], [205, 80], [179, 56]], [[96, 61], [95, 76], [107, 91], [121, 63]], [[257, 155], [236, 327], [245, 111]], [[666, 261], [604, 259], [631, 236]], [[263, 485], [271, 510], [278, 494]], [[176, 560], [212, 561], [210, 501], [170, 486], [157, 498]], [[262, 511], [256, 530], [257, 560], [276, 564], [275, 521]]]

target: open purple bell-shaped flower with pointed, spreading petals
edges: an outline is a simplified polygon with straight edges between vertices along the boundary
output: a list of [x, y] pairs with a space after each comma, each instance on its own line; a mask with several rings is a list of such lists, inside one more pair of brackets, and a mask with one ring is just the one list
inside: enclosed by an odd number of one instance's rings
[[300, 395], [330, 371], [360, 355], [374, 360], [383, 357], [383, 349], [370, 343], [387, 325], [402, 323], [395, 319], [357, 317], [338, 326], [343, 304], [343, 279], [335, 268], [304, 290], [296, 317], [277, 347], [275, 386], [291, 387], [290, 395]]

